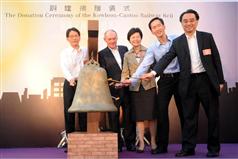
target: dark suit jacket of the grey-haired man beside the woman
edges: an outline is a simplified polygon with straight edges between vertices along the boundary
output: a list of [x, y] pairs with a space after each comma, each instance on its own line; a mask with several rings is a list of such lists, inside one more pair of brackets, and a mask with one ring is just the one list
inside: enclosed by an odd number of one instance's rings
[[[121, 55], [121, 61], [123, 66], [124, 54], [128, 51], [126, 46], [118, 46], [118, 51]], [[98, 53], [98, 61], [101, 67], [103, 67], [107, 72], [107, 78], [112, 78], [114, 80], [121, 80], [121, 68], [117, 64], [116, 59], [114, 58], [111, 50], [106, 47]], [[110, 87], [112, 96], [123, 96], [122, 91], [116, 90], [113, 87]]]

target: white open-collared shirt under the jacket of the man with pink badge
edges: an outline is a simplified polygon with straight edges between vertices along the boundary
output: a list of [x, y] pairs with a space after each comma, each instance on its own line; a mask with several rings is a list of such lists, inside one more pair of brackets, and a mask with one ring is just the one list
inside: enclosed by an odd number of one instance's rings
[[201, 73], [205, 72], [205, 69], [202, 65], [201, 57], [198, 50], [197, 36], [194, 33], [191, 37], [187, 36], [188, 47], [191, 58], [191, 73]]

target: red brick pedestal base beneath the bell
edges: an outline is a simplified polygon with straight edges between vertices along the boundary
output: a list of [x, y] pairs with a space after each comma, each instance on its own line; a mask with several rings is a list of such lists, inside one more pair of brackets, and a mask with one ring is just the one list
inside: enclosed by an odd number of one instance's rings
[[117, 134], [111, 132], [68, 134], [68, 158], [118, 158]]

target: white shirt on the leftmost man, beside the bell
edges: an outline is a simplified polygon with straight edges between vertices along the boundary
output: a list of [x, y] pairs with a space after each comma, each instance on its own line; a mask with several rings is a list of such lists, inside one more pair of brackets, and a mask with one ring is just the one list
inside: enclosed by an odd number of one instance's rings
[[86, 48], [74, 49], [71, 46], [64, 49], [60, 55], [60, 64], [65, 79], [77, 79], [80, 70], [88, 60], [88, 50]]

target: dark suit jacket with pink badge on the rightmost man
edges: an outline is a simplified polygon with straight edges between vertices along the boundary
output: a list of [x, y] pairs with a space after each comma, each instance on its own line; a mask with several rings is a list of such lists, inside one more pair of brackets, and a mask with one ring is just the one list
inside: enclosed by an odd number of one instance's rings
[[[209, 77], [211, 85], [215, 91], [220, 94], [219, 84], [224, 83], [224, 76], [220, 55], [216, 47], [215, 41], [211, 33], [197, 31], [198, 49], [203, 67]], [[206, 50], [208, 49], [208, 50]], [[210, 52], [210, 53], [209, 53]], [[154, 66], [154, 70], [161, 74], [166, 66], [178, 57], [180, 66], [180, 82], [179, 91], [182, 97], [188, 93], [188, 87], [191, 78], [191, 59], [189, 53], [188, 42], [185, 34], [182, 34], [173, 41], [173, 44], [167, 54]]]

